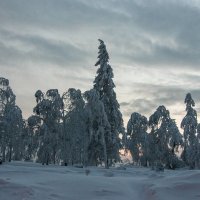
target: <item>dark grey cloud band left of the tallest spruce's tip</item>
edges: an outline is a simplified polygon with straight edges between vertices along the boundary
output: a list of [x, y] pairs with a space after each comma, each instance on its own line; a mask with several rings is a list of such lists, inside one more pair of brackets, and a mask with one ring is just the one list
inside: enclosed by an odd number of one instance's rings
[[59, 66], [87, 64], [87, 52], [76, 46], [40, 36], [0, 31], [0, 60], [5, 64], [41, 62]]

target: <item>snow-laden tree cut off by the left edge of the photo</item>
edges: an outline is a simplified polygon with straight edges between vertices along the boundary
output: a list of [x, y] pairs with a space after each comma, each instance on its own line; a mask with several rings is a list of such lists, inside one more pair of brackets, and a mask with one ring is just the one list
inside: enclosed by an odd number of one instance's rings
[[15, 103], [15, 95], [9, 86], [9, 80], [0, 78], [0, 153], [6, 158], [22, 158], [22, 112]]

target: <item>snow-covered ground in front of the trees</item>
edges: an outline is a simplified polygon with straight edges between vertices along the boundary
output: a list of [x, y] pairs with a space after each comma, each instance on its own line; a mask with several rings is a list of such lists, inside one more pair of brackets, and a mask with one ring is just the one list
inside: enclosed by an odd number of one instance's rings
[[200, 200], [200, 170], [0, 165], [0, 200]]

